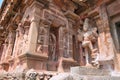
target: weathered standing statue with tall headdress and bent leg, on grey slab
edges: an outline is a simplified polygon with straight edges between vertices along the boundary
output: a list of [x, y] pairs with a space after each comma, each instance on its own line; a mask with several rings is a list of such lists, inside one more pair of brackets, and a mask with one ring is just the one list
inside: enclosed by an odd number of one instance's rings
[[90, 20], [86, 18], [83, 25], [83, 31], [79, 30], [78, 34], [78, 40], [83, 40], [82, 46], [85, 50], [86, 66], [89, 66], [90, 62], [94, 63], [96, 61], [96, 55], [99, 53], [96, 47], [98, 37], [97, 28], [91, 25]]

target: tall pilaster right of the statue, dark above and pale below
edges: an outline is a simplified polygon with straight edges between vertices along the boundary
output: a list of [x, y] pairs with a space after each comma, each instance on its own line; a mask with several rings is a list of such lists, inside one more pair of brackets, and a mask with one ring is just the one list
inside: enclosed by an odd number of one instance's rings
[[[113, 41], [110, 33], [110, 23], [109, 23], [109, 16], [107, 13], [107, 6], [106, 4], [102, 4], [100, 6], [100, 20], [102, 26], [100, 30], [102, 30], [99, 34], [98, 38], [98, 46], [99, 46], [99, 62], [105, 69], [113, 66], [113, 59], [114, 59], [114, 48], [113, 48]], [[101, 44], [102, 43], [102, 44]], [[104, 64], [105, 63], [105, 64]], [[112, 70], [112, 68], [111, 68]]]

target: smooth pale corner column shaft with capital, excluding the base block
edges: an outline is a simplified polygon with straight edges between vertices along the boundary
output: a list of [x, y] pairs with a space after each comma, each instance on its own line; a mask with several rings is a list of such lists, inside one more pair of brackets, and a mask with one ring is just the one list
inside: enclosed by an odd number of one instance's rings
[[[43, 5], [37, 1], [34, 1], [30, 6], [32, 9], [31, 13], [31, 24], [28, 34], [28, 52], [35, 53], [37, 46], [37, 37], [38, 37], [38, 27], [40, 27], [40, 18], [42, 17], [40, 13], [42, 13]], [[39, 13], [39, 14], [38, 14]]]

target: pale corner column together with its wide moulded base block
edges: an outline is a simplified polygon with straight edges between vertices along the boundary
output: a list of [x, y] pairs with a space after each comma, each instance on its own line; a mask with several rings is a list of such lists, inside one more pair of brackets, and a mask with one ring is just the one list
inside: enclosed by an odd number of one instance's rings
[[[32, 15], [28, 14], [30, 16], [29, 20], [31, 22], [28, 33], [28, 48], [24, 54], [18, 56], [24, 69], [47, 70], [48, 55], [39, 54], [36, 50], [38, 45], [38, 29], [41, 27], [40, 20], [43, 19], [39, 14], [42, 11], [42, 7], [43, 6], [41, 6], [41, 3], [37, 1], [34, 1], [29, 7], [31, 9]], [[45, 47], [46, 44], [43, 46]]]

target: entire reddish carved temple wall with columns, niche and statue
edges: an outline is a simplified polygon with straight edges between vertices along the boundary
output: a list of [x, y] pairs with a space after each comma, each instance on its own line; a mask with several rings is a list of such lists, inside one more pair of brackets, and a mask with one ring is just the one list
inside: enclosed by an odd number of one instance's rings
[[[110, 23], [114, 25], [114, 15], [119, 11], [110, 13], [110, 9], [114, 12], [111, 6], [115, 7], [115, 3], [101, 3], [96, 8], [89, 6], [87, 10], [88, 3], [78, 4], [71, 0], [25, 0], [20, 3], [22, 7], [18, 8], [18, 13], [21, 16], [10, 19], [15, 26], [5, 27], [8, 35], [1, 56], [5, 70], [21, 67], [64, 72], [78, 65], [99, 68], [107, 64], [113, 67], [114, 58], [117, 56], [118, 61], [119, 55], [114, 52]], [[81, 7], [85, 11], [79, 14], [76, 10], [79, 12]], [[11, 30], [11, 27], [16, 29]], [[119, 69], [117, 67], [115, 65]]]

